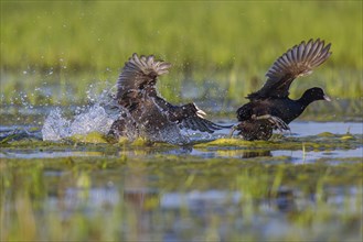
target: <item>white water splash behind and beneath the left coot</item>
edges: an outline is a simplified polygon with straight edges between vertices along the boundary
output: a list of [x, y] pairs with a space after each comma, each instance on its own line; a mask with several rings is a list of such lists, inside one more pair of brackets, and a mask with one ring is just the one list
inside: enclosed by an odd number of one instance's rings
[[217, 139], [217, 136], [212, 136], [211, 134], [191, 134], [175, 123], [169, 123], [160, 130], [147, 128], [145, 127], [146, 123], [136, 124], [128, 110], [120, 107], [115, 100], [113, 88], [104, 90], [97, 96], [95, 95], [95, 86], [90, 85], [86, 95], [92, 105], [77, 107], [71, 118], [66, 118], [66, 110], [62, 110], [60, 107], [53, 109], [46, 117], [42, 128], [43, 140], [60, 141], [74, 135], [86, 135], [92, 132], [107, 135], [115, 121], [120, 121], [121, 123], [120, 133], [118, 133], [117, 128], [113, 127], [115, 138], [126, 136], [130, 141], [137, 138], [145, 138], [151, 142], [185, 145]]

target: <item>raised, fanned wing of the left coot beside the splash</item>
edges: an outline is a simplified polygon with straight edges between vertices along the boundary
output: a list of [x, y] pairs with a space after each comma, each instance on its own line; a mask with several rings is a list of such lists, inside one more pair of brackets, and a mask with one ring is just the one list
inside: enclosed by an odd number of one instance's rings
[[126, 108], [137, 106], [139, 99], [149, 96], [157, 96], [156, 82], [160, 75], [167, 74], [171, 64], [156, 61], [153, 55], [140, 57], [134, 54], [127, 63], [117, 80], [116, 98]]

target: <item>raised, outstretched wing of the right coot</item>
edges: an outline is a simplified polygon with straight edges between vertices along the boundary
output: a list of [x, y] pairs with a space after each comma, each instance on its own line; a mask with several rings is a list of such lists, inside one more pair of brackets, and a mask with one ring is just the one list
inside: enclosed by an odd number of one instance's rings
[[263, 88], [247, 96], [248, 99], [268, 97], [284, 98], [289, 95], [292, 80], [299, 76], [307, 76], [312, 69], [321, 65], [330, 55], [331, 44], [324, 45], [319, 38], [301, 42], [288, 50], [268, 69], [267, 81]]

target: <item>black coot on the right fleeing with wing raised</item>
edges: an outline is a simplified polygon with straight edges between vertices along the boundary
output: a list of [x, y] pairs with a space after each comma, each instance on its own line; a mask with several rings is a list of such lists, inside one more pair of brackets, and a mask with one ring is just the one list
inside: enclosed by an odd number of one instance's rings
[[273, 130], [290, 130], [288, 123], [298, 118], [311, 102], [330, 101], [319, 87], [306, 90], [298, 100], [288, 97], [295, 78], [311, 74], [331, 55], [330, 45], [324, 45], [324, 41], [319, 38], [310, 40], [280, 56], [268, 69], [263, 88], [248, 95], [249, 102], [237, 110], [239, 123], [232, 128], [232, 133], [238, 130], [245, 140], [268, 140]]

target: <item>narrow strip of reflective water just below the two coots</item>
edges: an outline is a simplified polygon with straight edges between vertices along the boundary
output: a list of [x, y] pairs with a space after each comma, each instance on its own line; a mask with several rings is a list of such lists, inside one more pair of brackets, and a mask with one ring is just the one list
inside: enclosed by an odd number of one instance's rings
[[139, 157], [152, 155], [189, 155], [202, 158], [257, 158], [257, 157], [286, 157], [295, 164], [313, 163], [318, 160], [331, 160], [331, 162], [340, 161], [340, 158], [362, 157], [363, 146], [353, 150], [334, 150], [334, 151], [291, 151], [291, 150], [216, 150], [216, 151], [201, 151], [192, 147], [178, 147], [167, 150], [134, 150], [134, 151], [89, 151], [87, 150], [54, 150], [54, 151], [39, 151], [30, 150], [1, 150], [0, 158], [54, 158], [54, 157]]

